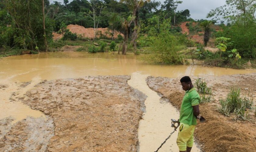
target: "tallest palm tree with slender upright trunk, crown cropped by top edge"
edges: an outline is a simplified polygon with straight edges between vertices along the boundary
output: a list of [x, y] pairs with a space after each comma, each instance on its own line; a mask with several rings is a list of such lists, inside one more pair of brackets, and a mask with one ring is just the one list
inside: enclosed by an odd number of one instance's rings
[[134, 30], [133, 30], [133, 47], [134, 47], [134, 53], [137, 52], [137, 30], [138, 30], [138, 19], [139, 19], [139, 9], [144, 5], [145, 2], [150, 2], [150, 0], [120, 0], [121, 3], [127, 4], [131, 11], [133, 11], [133, 17], [134, 17]]

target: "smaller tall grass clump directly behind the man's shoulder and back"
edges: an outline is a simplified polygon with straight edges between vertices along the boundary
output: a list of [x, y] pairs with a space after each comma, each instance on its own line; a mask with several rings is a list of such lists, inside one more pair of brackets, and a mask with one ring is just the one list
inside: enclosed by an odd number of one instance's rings
[[195, 84], [197, 85], [197, 92], [201, 95], [200, 103], [211, 102], [213, 100], [212, 88], [207, 87], [205, 80], [203, 78], [196, 78]]

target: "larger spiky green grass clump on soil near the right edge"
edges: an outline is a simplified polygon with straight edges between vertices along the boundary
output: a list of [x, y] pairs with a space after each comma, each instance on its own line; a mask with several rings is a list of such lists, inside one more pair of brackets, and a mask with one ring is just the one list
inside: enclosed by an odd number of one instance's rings
[[235, 119], [247, 120], [248, 111], [251, 109], [253, 99], [248, 95], [241, 96], [240, 88], [231, 88], [229, 94], [225, 99], [219, 100], [220, 108], [219, 112], [225, 116], [234, 115]]

